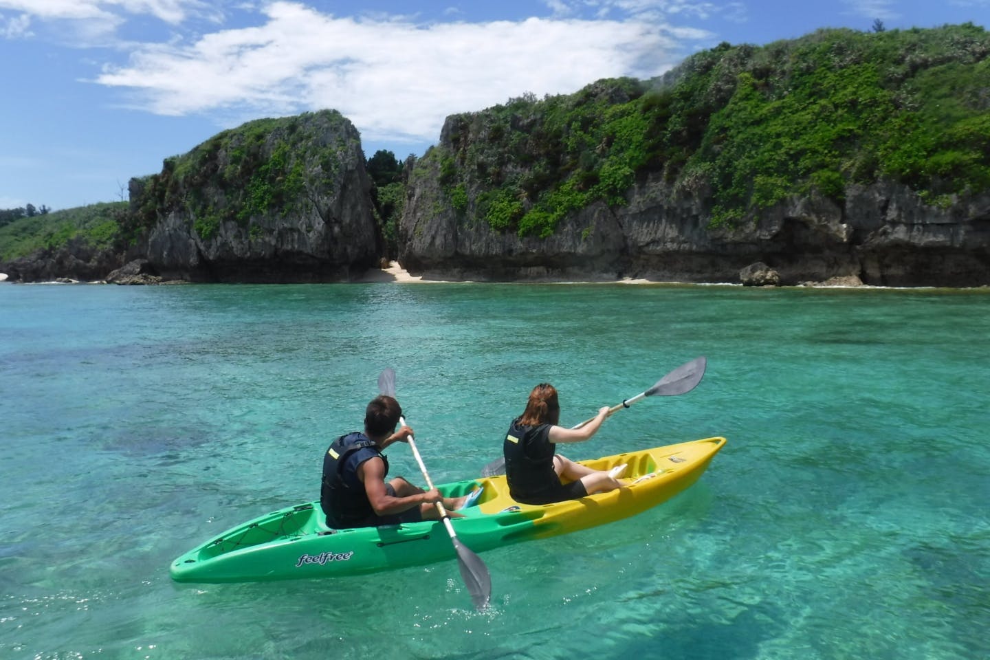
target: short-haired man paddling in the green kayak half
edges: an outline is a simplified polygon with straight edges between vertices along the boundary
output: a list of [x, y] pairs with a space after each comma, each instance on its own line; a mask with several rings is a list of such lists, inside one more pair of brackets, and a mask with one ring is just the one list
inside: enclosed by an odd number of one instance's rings
[[[403, 477], [388, 481], [388, 459], [381, 453], [393, 442], [407, 442], [413, 429], [396, 430], [402, 409], [392, 397], [381, 395], [367, 405], [364, 431], [334, 440], [323, 458], [320, 505], [327, 524], [337, 529], [439, 519], [437, 502], [448, 512], [463, 506], [466, 497], [444, 498], [440, 491], [424, 491]], [[451, 518], [460, 514], [449, 513]]]

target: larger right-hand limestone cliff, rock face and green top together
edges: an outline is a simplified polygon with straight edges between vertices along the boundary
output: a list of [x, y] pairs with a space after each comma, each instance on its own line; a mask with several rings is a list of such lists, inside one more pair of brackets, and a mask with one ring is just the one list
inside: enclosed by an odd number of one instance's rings
[[990, 284], [990, 34], [720, 45], [448, 117], [409, 173], [427, 276]]

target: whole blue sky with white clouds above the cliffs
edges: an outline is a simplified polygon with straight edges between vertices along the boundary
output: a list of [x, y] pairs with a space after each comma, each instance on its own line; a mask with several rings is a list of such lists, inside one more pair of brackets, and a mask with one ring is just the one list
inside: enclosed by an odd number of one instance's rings
[[0, 209], [127, 199], [166, 156], [322, 108], [368, 156], [421, 155], [451, 113], [876, 18], [987, 27], [990, 0], [0, 0]]

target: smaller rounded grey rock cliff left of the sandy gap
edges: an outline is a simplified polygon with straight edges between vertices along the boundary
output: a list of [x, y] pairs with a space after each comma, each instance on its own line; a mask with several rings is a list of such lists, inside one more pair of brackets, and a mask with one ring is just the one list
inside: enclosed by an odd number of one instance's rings
[[322, 282], [376, 263], [356, 130], [323, 111], [225, 132], [131, 182], [146, 258], [165, 279]]

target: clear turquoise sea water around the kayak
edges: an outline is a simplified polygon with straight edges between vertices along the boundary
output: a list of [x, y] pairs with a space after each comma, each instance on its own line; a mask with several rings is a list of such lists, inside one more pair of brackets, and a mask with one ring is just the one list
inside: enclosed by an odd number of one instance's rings
[[[987, 291], [0, 285], [0, 658], [987, 657], [988, 328]], [[316, 499], [385, 367], [442, 483], [540, 381], [575, 424], [701, 354], [695, 391], [566, 452], [725, 435], [701, 481], [484, 553], [490, 612], [453, 561], [168, 577]]]

